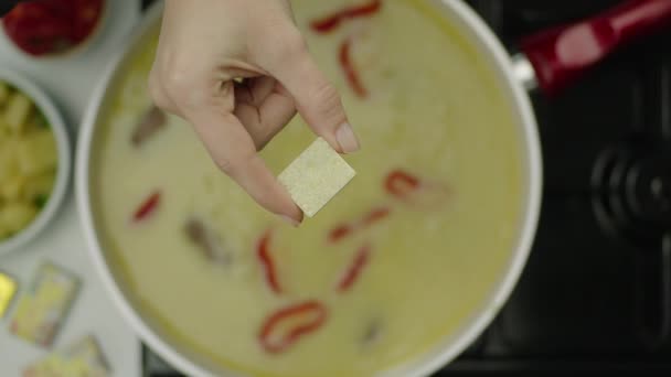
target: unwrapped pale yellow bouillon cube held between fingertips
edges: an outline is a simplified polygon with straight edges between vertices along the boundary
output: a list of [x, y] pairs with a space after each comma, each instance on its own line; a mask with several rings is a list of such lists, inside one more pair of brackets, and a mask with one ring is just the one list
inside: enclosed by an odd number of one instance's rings
[[356, 172], [329, 143], [318, 138], [278, 176], [308, 217], [315, 216]]

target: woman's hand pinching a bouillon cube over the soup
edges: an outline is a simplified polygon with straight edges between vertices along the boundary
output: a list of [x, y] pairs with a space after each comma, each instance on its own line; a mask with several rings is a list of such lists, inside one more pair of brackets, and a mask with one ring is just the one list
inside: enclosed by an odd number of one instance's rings
[[337, 151], [359, 149], [288, 0], [166, 0], [149, 87], [158, 107], [194, 127], [221, 170], [295, 225], [301, 211], [257, 151], [296, 111]]

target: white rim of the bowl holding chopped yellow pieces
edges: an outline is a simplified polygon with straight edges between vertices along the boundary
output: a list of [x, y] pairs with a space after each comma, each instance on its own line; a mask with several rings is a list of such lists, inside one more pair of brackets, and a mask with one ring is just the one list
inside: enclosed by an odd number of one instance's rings
[[70, 173], [72, 169], [72, 152], [70, 138], [65, 122], [63, 121], [63, 117], [44, 90], [39, 88], [21, 74], [1, 67], [0, 80], [7, 82], [8, 84], [14, 86], [35, 103], [35, 106], [42, 111], [42, 114], [44, 114], [44, 117], [49, 121], [49, 125], [54, 133], [56, 148], [58, 151], [56, 181], [54, 182], [54, 186], [49, 195], [46, 205], [40, 211], [38, 216], [35, 216], [28, 227], [23, 228], [12, 237], [0, 241], [0, 256], [2, 256], [10, 251], [21, 249], [29, 241], [38, 237], [46, 225], [54, 218], [54, 215], [57, 213], [58, 207], [65, 197], [65, 193], [67, 192]]

